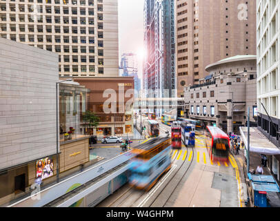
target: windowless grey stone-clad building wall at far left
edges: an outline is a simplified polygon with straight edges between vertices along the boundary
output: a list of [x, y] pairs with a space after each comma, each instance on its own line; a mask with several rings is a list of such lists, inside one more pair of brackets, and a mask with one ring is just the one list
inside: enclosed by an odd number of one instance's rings
[[34, 183], [37, 160], [56, 166], [58, 56], [0, 38], [0, 204]]

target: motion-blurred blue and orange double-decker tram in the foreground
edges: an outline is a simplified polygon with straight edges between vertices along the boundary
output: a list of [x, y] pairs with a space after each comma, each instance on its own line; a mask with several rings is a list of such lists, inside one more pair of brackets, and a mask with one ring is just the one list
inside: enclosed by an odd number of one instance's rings
[[171, 167], [170, 138], [154, 138], [132, 150], [128, 183], [137, 189], [150, 190]]

